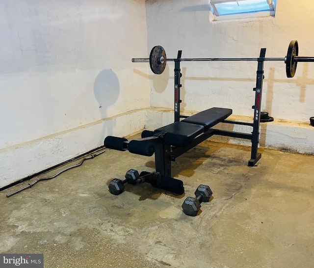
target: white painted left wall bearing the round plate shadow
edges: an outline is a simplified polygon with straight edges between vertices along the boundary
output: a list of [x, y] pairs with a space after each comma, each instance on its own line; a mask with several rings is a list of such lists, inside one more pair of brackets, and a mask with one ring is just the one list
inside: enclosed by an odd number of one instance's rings
[[0, 35], [0, 187], [144, 127], [145, 0], [2, 0]]

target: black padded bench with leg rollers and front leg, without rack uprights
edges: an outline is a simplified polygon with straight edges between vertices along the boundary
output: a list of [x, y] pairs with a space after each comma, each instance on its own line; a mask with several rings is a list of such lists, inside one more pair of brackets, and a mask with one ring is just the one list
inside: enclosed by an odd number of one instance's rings
[[183, 182], [171, 177], [171, 161], [213, 135], [211, 127], [231, 114], [232, 109], [210, 108], [155, 131], [144, 130], [137, 140], [107, 136], [105, 147], [144, 156], [155, 153], [156, 171], [141, 172], [136, 182], [149, 182], [154, 187], [183, 194]]

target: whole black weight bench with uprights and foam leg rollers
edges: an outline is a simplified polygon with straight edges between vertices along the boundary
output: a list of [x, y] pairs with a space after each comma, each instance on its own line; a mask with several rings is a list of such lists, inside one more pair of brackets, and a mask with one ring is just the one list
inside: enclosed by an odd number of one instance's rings
[[[255, 102], [252, 106], [252, 109], [254, 109], [253, 123], [250, 123], [226, 120], [228, 116], [232, 114], [232, 109], [228, 108], [214, 107], [198, 112], [192, 116], [181, 115], [180, 105], [182, 100], [180, 99], [180, 88], [182, 85], [180, 79], [182, 74], [180, 64], [182, 51], [178, 51], [178, 56], [174, 59], [174, 123], [158, 128], [155, 131], [144, 130], [141, 138], [138, 140], [129, 141], [126, 138], [113, 136], [107, 136], [105, 138], [105, 147], [110, 149], [120, 151], [129, 150], [130, 153], [144, 156], [152, 156], [155, 153], [155, 172], [143, 171], [138, 174], [137, 171], [134, 173], [134, 170], [132, 170], [132, 172], [129, 170], [126, 174], [126, 180], [121, 182], [121, 185], [126, 182], [130, 184], [148, 182], [152, 184], [153, 187], [183, 194], [183, 182], [171, 177], [171, 161], [175, 161], [177, 157], [212, 135], [250, 140], [252, 142], [251, 159], [248, 161], [248, 165], [254, 166], [262, 156], [261, 153], [258, 152], [258, 144], [260, 139], [265, 53], [266, 49], [261, 49], [260, 57], [257, 58], [256, 86], [253, 88], [253, 91], [255, 91]], [[251, 133], [241, 133], [214, 129], [213, 127], [219, 122], [249, 126], [253, 128], [253, 131]], [[131, 176], [130, 173], [133, 175]], [[132, 179], [129, 178], [130, 176]], [[121, 192], [121, 185], [120, 190], [117, 190], [117, 192]]]

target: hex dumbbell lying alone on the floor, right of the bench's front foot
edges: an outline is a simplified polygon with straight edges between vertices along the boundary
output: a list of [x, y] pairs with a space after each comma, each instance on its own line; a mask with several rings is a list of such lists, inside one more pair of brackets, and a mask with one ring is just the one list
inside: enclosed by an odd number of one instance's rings
[[202, 202], [208, 202], [212, 195], [212, 191], [209, 186], [201, 184], [195, 191], [196, 197], [187, 197], [183, 204], [183, 212], [188, 216], [196, 216], [198, 211], [201, 209]]

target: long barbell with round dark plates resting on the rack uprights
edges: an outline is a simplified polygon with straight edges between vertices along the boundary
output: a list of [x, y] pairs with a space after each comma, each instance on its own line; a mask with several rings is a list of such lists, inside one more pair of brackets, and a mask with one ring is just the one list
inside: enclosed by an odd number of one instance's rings
[[288, 78], [294, 77], [298, 62], [314, 62], [314, 57], [298, 56], [298, 41], [292, 40], [284, 58], [167, 58], [161, 46], [155, 46], [149, 58], [132, 58], [132, 62], [149, 62], [154, 74], [160, 75], [166, 68], [167, 61], [285, 61]]

